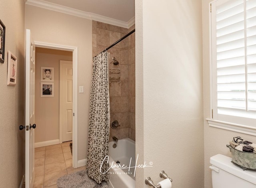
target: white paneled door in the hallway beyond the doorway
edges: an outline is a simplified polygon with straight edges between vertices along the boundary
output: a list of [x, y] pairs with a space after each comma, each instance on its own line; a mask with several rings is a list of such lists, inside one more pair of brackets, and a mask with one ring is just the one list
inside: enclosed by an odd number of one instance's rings
[[[60, 61], [60, 124], [62, 142], [72, 141], [73, 131], [73, 63]], [[61, 127], [61, 126], [60, 126]], [[61, 130], [60, 130], [61, 131]]]

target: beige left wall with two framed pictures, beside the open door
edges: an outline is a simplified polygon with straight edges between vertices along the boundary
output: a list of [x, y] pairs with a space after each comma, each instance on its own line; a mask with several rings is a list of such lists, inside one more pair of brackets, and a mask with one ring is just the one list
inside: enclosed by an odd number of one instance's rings
[[[24, 130], [24, 1], [1, 0], [6, 26], [5, 61], [0, 63], [0, 187], [19, 187], [23, 176]], [[17, 57], [17, 83], [7, 85], [8, 50]]]

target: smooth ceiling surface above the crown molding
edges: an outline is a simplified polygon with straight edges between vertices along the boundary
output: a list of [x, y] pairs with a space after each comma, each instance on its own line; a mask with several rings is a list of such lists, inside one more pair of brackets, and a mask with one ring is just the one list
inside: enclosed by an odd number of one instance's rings
[[[65, 8], [71, 12], [77, 10], [80, 12], [79, 14], [82, 12], [84, 15], [90, 15], [90, 18], [96, 21], [102, 21], [105, 18], [105, 20], [108, 20], [107, 22], [113, 20], [116, 23], [119, 21], [129, 24], [129, 22], [133, 22], [135, 16], [134, 0], [26, 0], [26, 4], [41, 5], [43, 8], [49, 8], [50, 6], [56, 9], [59, 5], [60, 9]], [[49, 9], [53, 10], [54, 8]], [[100, 20], [93, 19], [94, 17], [100, 18]]]

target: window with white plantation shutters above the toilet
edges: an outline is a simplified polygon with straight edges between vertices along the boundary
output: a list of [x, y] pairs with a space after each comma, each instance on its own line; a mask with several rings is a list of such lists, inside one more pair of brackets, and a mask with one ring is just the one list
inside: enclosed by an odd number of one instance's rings
[[256, 0], [210, 6], [211, 120], [256, 131]]

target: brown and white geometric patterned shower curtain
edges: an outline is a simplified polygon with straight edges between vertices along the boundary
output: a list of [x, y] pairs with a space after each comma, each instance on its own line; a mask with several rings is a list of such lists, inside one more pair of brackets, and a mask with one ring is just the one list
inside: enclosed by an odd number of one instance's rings
[[97, 183], [108, 182], [108, 137], [110, 102], [108, 90], [108, 53], [93, 58], [88, 132], [88, 176]]

